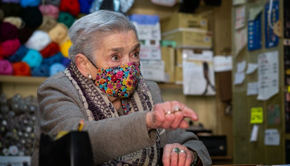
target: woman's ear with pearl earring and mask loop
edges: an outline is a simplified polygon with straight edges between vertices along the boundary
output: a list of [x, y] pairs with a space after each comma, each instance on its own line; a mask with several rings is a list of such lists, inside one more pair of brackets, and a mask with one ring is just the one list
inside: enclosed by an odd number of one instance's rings
[[87, 77], [88, 73], [92, 74], [89, 68], [89, 60], [83, 54], [77, 54], [75, 56], [75, 64], [77, 65], [77, 69], [84, 76]]

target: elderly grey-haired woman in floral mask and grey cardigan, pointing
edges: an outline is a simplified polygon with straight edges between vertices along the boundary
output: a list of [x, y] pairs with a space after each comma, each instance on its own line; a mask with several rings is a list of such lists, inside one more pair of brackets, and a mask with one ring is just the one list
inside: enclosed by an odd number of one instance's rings
[[196, 121], [196, 113], [177, 101], [162, 102], [157, 84], [143, 79], [140, 43], [126, 16], [99, 10], [77, 20], [69, 37], [72, 62], [38, 89], [32, 165], [40, 133], [77, 130], [81, 119], [95, 165], [211, 165], [203, 143], [184, 130], [184, 117]]

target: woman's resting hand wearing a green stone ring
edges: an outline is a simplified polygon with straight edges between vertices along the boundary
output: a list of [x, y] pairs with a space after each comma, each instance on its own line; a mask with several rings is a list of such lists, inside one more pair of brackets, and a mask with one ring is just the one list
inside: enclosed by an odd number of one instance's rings
[[[180, 152], [173, 151], [178, 148]], [[189, 166], [194, 162], [194, 154], [187, 147], [179, 143], [166, 144], [163, 150], [162, 162], [164, 166]]]

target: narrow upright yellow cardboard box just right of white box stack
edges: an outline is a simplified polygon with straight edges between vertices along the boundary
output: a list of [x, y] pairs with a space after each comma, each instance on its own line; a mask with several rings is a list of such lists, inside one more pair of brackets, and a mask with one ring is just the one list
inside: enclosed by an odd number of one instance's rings
[[161, 47], [162, 60], [165, 63], [165, 80], [167, 83], [175, 82], [175, 50], [173, 47]]

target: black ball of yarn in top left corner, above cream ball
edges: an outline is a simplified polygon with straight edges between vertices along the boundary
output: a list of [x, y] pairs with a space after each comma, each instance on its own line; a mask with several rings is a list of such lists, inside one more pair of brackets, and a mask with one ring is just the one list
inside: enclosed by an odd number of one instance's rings
[[4, 17], [19, 17], [21, 15], [21, 5], [19, 3], [1, 3], [0, 7], [4, 12]]

